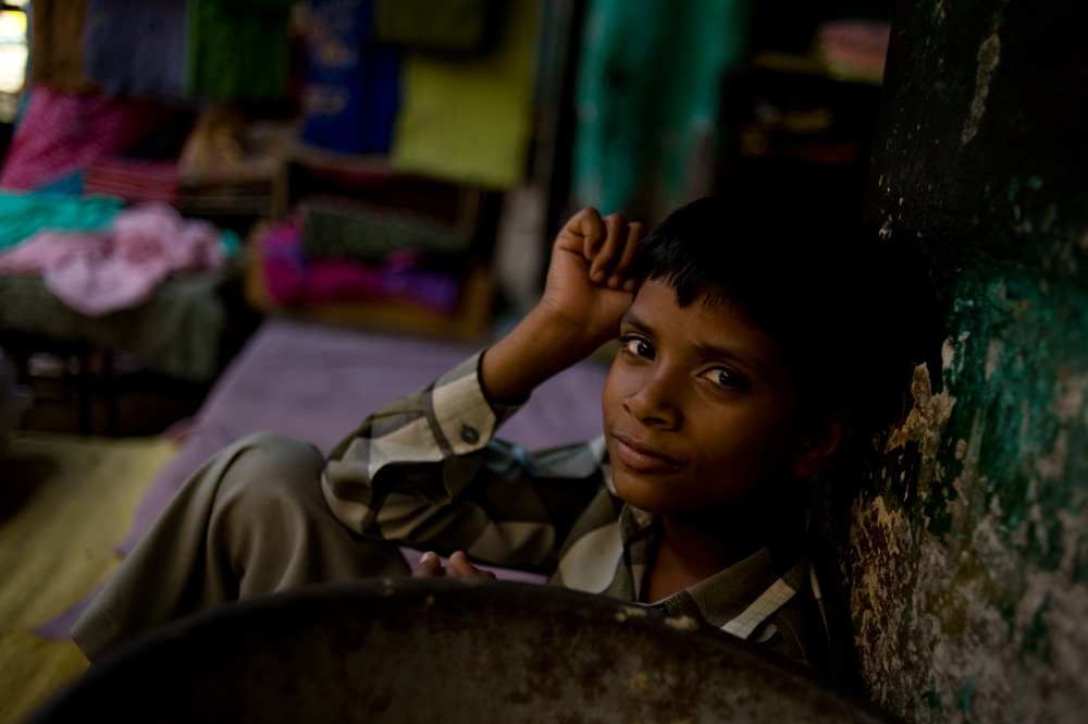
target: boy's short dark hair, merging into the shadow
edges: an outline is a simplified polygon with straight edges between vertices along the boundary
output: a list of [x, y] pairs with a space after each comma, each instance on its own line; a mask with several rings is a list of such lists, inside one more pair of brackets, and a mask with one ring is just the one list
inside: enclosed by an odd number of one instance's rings
[[[803, 414], [860, 410], [887, 365], [875, 291], [881, 270], [849, 219], [813, 203], [738, 191], [693, 201], [642, 243], [639, 284], [668, 284], [681, 307], [729, 303], [770, 336], [798, 383]], [[860, 243], [864, 242], [864, 243]]]

